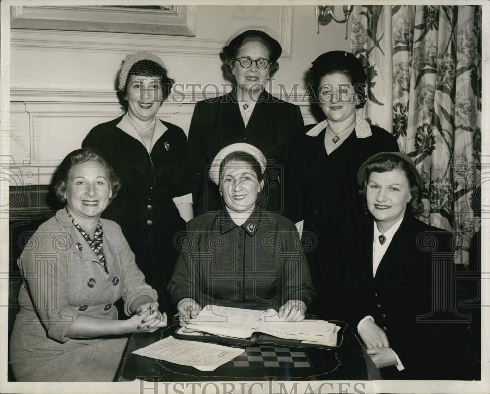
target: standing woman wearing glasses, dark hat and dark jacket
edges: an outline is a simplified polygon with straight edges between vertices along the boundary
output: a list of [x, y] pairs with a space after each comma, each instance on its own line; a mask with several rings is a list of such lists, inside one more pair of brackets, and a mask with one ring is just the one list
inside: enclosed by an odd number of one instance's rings
[[[234, 89], [194, 108], [189, 129], [189, 165], [195, 214], [221, 208], [216, 185], [206, 166], [225, 146], [245, 142], [260, 149], [269, 162], [266, 209], [281, 212], [282, 165], [289, 141], [303, 126], [299, 107], [279, 100], [264, 89], [279, 69], [280, 44], [260, 30], [246, 30], [223, 48], [225, 70]], [[271, 162], [273, 161], [273, 163]]]

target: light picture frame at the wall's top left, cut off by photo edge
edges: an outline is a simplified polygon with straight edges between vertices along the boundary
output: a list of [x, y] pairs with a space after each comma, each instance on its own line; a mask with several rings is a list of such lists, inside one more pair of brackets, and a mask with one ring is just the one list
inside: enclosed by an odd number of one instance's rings
[[11, 27], [196, 36], [196, 6], [12, 6]]

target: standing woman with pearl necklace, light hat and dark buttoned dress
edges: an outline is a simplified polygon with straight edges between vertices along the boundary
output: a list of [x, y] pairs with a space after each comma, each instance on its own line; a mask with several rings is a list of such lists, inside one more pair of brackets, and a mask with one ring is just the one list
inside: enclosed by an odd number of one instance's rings
[[166, 286], [177, 259], [173, 236], [193, 217], [187, 141], [181, 128], [155, 117], [173, 80], [149, 52], [128, 55], [118, 75], [123, 116], [94, 127], [83, 147], [101, 151], [120, 174], [119, 199], [104, 217], [120, 224], [136, 263], [167, 308]]

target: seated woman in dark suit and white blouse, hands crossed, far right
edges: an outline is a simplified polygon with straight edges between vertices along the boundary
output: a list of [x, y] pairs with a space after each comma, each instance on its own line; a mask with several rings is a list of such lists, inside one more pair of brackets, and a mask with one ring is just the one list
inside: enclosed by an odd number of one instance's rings
[[369, 219], [346, 262], [351, 323], [383, 378], [453, 379], [456, 344], [464, 338], [452, 335], [458, 325], [438, 319], [433, 303], [444, 286], [437, 268], [454, 261], [451, 234], [415, 218], [423, 181], [404, 153], [371, 156], [357, 181]]

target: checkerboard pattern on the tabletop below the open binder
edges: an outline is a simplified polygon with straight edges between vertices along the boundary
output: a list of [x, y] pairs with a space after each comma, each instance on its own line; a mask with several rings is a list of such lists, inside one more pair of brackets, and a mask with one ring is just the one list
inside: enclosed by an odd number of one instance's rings
[[245, 353], [226, 363], [226, 367], [280, 367], [311, 368], [306, 353], [302, 350], [291, 351], [289, 348], [273, 346], [248, 347]]

